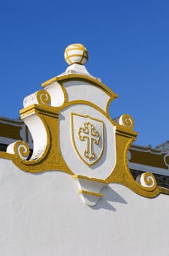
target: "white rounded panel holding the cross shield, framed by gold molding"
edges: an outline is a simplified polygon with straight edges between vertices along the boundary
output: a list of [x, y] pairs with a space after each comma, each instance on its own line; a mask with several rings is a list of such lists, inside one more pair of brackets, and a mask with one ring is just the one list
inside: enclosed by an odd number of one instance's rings
[[59, 143], [74, 175], [105, 180], [114, 171], [116, 127], [100, 108], [73, 102], [61, 110]]

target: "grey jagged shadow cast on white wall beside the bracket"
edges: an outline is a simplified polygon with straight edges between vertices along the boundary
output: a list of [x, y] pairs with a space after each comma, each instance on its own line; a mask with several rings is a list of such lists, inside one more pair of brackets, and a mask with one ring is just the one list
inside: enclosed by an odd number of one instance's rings
[[114, 208], [114, 206], [111, 206], [109, 202], [127, 204], [126, 200], [123, 197], [121, 197], [121, 195], [119, 195], [117, 192], [115, 192], [114, 189], [111, 189], [111, 187], [109, 186], [104, 187], [102, 189], [102, 192], [103, 198], [101, 198], [95, 206], [91, 207], [93, 210], [99, 210], [103, 208], [109, 211], [116, 211], [116, 208]]

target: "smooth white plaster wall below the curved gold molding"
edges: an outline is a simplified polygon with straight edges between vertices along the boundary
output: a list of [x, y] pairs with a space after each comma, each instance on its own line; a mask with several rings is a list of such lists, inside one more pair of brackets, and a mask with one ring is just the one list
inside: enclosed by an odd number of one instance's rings
[[0, 255], [169, 255], [169, 197], [119, 184], [90, 208], [66, 173], [24, 173], [0, 159]]

